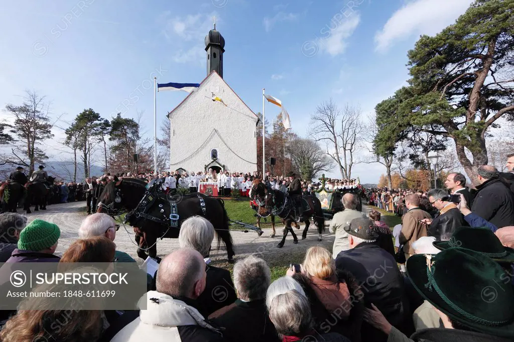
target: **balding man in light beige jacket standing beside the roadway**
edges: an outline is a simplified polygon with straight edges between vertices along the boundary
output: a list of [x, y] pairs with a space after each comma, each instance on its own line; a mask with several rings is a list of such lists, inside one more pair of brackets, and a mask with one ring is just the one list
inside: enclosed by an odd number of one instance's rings
[[353, 194], [344, 194], [341, 202], [343, 203], [344, 210], [334, 215], [329, 228], [331, 233], [336, 233], [332, 248], [332, 257], [334, 259], [339, 252], [350, 249], [348, 233], [344, 231], [344, 227], [348, 226], [354, 218], [368, 218], [366, 214], [357, 211], [358, 199]]

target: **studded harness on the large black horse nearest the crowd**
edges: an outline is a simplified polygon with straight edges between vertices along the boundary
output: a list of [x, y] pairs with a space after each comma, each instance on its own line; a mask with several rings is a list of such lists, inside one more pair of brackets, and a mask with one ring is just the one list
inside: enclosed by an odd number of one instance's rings
[[[168, 225], [171, 228], [178, 228], [178, 221], [180, 219], [180, 216], [178, 214], [178, 207], [177, 203], [180, 201], [180, 196], [178, 198], [174, 198], [172, 195], [164, 194], [163, 192], [159, 191], [159, 189], [162, 186], [162, 182], [164, 181], [163, 178], [161, 179], [154, 179], [152, 182], [150, 182], [146, 186], [146, 191], [144, 193], [143, 198], [139, 201], [138, 205], [134, 208], [134, 210], [128, 212], [128, 214], [125, 216], [124, 223], [130, 221], [132, 217], [139, 219], [144, 218], [147, 220], [151, 220], [156, 223], [160, 223], [163, 225]], [[115, 202], [121, 202], [121, 194], [118, 192], [115, 198]], [[119, 199], [119, 200], [118, 200]], [[200, 201], [200, 208], [201, 212], [203, 213], [203, 216], [206, 215], [206, 206], [205, 206], [205, 200], [203, 197], [198, 195], [198, 199]], [[118, 202], [118, 203], [119, 203]], [[159, 203], [160, 208], [160, 217], [156, 217], [154, 215], [149, 214], [150, 209], [156, 202], [168, 202], [170, 204], [170, 215], [167, 216], [164, 211], [164, 205], [162, 203]]]

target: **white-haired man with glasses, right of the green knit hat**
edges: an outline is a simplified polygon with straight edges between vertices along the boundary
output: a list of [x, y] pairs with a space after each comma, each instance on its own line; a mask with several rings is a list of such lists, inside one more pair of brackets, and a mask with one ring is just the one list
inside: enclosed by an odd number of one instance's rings
[[[86, 217], [82, 221], [79, 228], [79, 238], [105, 236], [107, 239], [114, 241], [118, 229], [120, 229], [120, 225], [116, 224], [116, 221], [111, 216], [97, 213]], [[121, 251], [116, 251], [114, 257], [118, 262], [136, 262], [130, 255]]]

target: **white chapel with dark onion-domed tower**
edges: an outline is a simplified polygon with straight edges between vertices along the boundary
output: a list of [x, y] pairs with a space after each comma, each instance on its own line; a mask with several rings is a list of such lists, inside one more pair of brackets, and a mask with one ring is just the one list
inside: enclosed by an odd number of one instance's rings
[[171, 170], [253, 172], [259, 119], [223, 79], [225, 39], [216, 26], [205, 45], [207, 77], [168, 113]]

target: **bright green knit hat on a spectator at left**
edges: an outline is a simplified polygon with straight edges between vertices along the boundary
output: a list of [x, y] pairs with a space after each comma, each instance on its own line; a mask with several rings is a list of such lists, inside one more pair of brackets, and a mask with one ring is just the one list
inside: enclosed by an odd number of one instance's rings
[[61, 236], [57, 224], [35, 219], [23, 229], [18, 240], [18, 249], [42, 251], [56, 244]]

